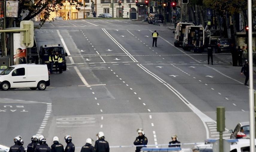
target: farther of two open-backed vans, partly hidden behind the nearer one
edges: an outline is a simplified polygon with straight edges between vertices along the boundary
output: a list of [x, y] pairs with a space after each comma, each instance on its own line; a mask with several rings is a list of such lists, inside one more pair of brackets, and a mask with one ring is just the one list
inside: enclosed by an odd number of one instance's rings
[[194, 25], [193, 23], [188, 22], [179, 22], [176, 26], [176, 30], [172, 31], [175, 33], [174, 35], [174, 46], [182, 46], [183, 37], [185, 33], [186, 26], [188, 25]]

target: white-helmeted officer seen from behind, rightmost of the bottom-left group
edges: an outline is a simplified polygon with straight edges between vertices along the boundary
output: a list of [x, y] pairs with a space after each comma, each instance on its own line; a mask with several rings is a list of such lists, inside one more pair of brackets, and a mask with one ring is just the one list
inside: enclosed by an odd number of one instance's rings
[[105, 141], [104, 133], [100, 131], [98, 134], [98, 140], [96, 140], [94, 148], [96, 152], [109, 152], [109, 144]]

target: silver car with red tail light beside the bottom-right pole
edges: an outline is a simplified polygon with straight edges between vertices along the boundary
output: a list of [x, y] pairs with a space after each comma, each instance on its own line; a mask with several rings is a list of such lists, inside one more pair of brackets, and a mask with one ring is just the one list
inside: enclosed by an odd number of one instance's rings
[[249, 122], [240, 122], [237, 124], [236, 128], [228, 131], [232, 138], [249, 138], [250, 137], [250, 124]]

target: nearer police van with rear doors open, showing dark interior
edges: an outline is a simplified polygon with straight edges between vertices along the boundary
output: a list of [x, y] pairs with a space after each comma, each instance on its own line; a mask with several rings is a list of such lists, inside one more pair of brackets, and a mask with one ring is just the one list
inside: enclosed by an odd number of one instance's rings
[[184, 50], [193, 50], [196, 48], [199, 52], [204, 50], [205, 31], [202, 26], [186, 26], [182, 48]]

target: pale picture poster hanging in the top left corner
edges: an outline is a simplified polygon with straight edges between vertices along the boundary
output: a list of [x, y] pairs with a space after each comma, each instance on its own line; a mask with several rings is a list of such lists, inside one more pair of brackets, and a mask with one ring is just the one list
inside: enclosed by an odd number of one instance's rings
[[18, 17], [19, 1], [6, 1], [6, 17]]

